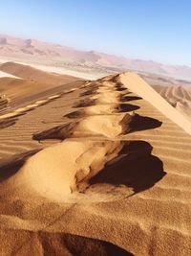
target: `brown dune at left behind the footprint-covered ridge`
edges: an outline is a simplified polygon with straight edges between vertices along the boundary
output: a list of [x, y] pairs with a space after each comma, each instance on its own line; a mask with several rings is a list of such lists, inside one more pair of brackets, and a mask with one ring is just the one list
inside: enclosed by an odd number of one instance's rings
[[10, 99], [6, 108], [42, 99], [52, 95], [53, 91], [70, 89], [74, 87], [75, 82], [77, 86], [77, 82], [80, 84], [80, 81], [83, 81], [72, 76], [51, 74], [14, 62], [1, 64], [0, 70], [6, 72], [3, 72], [2, 74], [6, 75], [0, 78], [0, 94], [5, 94]]

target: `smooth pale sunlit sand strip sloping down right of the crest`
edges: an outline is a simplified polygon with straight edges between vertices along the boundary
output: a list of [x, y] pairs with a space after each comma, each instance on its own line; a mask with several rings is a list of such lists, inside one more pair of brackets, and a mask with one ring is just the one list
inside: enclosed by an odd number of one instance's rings
[[172, 105], [169, 105], [146, 81], [143, 81], [136, 73], [127, 72], [119, 75], [120, 81], [131, 91], [137, 93], [144, 100], [154, 105], [159, 111], [170, 118], [191, 135], [191, 123], [178, 112]]

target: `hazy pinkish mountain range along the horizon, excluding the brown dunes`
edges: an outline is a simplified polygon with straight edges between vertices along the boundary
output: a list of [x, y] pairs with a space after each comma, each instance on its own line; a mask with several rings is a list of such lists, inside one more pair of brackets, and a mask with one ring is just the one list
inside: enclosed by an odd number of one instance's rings
[[71, 64], [84, 67], [136, 70], [139, 72], [191, 80], [191, 67], [164, 65], [152, 60], [130, 59], [107, 55], [96, 51], [78, 51], [70, 47], [41, 42], [35, 39], [21, 39], [0, 35], [0, 56], [39, 61], [51, 61], [57, 65]]

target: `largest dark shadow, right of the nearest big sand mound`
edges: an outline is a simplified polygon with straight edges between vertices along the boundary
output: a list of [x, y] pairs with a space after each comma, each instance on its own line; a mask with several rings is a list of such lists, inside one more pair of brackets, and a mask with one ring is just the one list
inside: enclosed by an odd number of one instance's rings
[[151, 152], [152, 146], [148, 142], [126, 142], [117, 158], [88, 181], [89, 188], [101, 183], [115, 187], [125, 185], [137, 194], [153, 187], [166, 173], [162, 161]]

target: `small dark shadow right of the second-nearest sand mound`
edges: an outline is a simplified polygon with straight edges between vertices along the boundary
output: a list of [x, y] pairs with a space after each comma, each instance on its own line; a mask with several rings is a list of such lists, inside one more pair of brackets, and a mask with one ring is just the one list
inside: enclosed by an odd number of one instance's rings
[[132, 131], [136, 131], [151, 128], [159, 128], [161, 124], [162, 122], [160, 122], [158, 119], [135, 114], [129, 126], [132, 129]]

